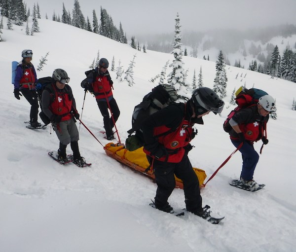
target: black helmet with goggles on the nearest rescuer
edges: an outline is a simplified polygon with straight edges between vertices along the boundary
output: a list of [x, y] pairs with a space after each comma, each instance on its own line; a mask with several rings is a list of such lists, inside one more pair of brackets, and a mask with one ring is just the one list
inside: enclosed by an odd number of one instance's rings
[[208, 87], [196, 89], [192, 94], [192, 102], [197, 115], [207, 111], [212, 111], [214, 114], [221, 113], [224, 107], [224, 102]]

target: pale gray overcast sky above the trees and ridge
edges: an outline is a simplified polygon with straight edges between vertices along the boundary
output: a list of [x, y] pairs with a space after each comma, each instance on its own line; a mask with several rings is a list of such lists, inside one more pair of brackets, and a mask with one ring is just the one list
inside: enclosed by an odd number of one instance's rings
[[[33, 9], [38, 2], [42, 17], [53, 10], [62, 15], [63, 0], [24, 0]], [[100, 6], [119, 21], [127, 36], [173, 32], [177, 12], [181, 31], [205, 31], [215, 28], [255, 28], [277, 24], [296, 24], [296, 0], [79, 0], [82, 13], [92, 22], [92, 10], [100, 18]], [[64, 0], [72, 10], [74, 0]]]

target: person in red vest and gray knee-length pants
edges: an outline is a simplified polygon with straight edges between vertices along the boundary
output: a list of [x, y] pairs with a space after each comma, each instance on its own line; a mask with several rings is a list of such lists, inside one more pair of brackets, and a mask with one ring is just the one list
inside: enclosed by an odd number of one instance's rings
[[85, 160], [81, 157], [78, 140], [79, 133], [75, 124], [75, 117], [79, 119], [76, 103], [69, 83], [70, 78], [63, 69], [56, 69], [52, 74], [53, 83], [47, 85], [42, 92], [42, 111], [50, 118], [53, 129], [60, 140], [58, 159], [63, 163], [67, 159], [66, 147], [71, 144], [73, 162], [84, 166]]

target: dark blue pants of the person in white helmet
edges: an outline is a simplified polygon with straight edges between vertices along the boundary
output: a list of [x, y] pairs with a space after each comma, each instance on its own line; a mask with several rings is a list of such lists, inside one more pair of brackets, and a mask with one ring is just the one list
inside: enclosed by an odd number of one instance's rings
[[[231, 140], [235, 147], [238, 147], [241, 142]], [[241, 172], [241, 178], [243, 180], [252, 180], [256, 165], [259, 161], [259, 155], [254, 149], [253, 143], [245, 142], [239, 149], [242, 153], [243, 168]]]

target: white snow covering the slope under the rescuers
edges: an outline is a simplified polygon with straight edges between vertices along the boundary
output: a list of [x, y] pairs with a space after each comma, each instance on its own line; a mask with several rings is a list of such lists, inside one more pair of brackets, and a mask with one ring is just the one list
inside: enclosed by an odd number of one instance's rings
[[[2, 29], [1, 35], [5, 41], [0, 42], [0, 251], [296, 251], [296, 111], [291, 110], [295, 83], [226, 67], [225, 108], [221, 116], [211, 113], [204, 117], [204, 125], [197, 126], [198, 135], [192, 141], [196, 147], [189, 158], [194, 167], [206, 171], [208, 178], [214, 173], [235, 149], [222, 129], [234, 108], [227, 108], [230, 95], [234, 87], [255, 85], [276, 98], [278, 115], [277, 120], [268, 123], [269, 144], [264, 146], [255, 171], [254, 179], [266, 186], [258, 192], [247, 192], [228, 184], [241, 171], [241, 156], [236, 153], [201, 190], [204, 205], [225, 216], [221, 224], [213, 225], [193, 215], [176, 217], [149, 207], [156, 184], [108, 157], [82, 125], [80, 152], [92, 166], [79, 169], [50, 159], [47, 152], [58, 148], [55, 133], [49, 126], [35, 131], [25, 128], [30, 106], [23, 97], [20, 101], [14, 98], [10, 84], [11, 61], [19, 61], [23, 49], [33, 50], [36, 68], [38, 59], [49, 52], [47, 65], [37, 76], [51, 75], [55, 68], [66, 70], [81, 115], [84, 92], [80, 82], [98, 49], [110, 63], [114, 55], [115, 67], [120, 59], [125, 70], [137, 54], [134, 86], [126, 81], [118, 83], [115, 72], [111, 72], [114, 97], [121, 111], [117, 128], [124, 142], [134, 106], [155, 86], [148, 79], [160, 73], [173, 56], [135, 51], [126, 44], [62, 23], [38, 22], [41, 32], [34, 36], [25, 35], [25, 26], [13, 26], [13, 31]], [[202, 66], [204, 84], [213, 87], [215, 62], [190, 57], [183, 61], [184, 68], [189, 69], [189, 82], [194, 69], [198, 71]], [[89, 93], [81, 116], [99, 141], [107, 144], [99, 134], [102, 115]], [[261, 142], [255, 144], [257, 150], [260, 146]], [[183, 190], [175, 189], [169, 202], [176, 210], [184, 208]]]

